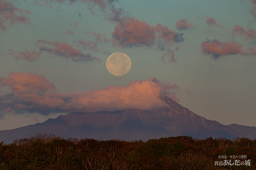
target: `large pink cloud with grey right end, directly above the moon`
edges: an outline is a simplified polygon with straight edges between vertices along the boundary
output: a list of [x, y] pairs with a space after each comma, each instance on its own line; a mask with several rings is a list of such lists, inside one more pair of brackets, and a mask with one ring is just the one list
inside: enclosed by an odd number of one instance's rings
[[163, 40], [167, 46], [182, 42], [183, 33], [172, 31], [167, 26], [157, 24], [150, 26], [144, 21], [135, 18], [127, 18], [120, 22], [112, 32], [113, 44], [121, 47], [153, 46], [156, 40]]

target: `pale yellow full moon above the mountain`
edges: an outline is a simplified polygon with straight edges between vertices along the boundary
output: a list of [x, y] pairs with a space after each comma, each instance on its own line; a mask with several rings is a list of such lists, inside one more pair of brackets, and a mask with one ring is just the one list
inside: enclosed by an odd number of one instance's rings
[[122, 76], [130, 71], [132, 62], [125, 53], [116, 52], [108, 56], [106, 67], [109, 73], [115, 76]]

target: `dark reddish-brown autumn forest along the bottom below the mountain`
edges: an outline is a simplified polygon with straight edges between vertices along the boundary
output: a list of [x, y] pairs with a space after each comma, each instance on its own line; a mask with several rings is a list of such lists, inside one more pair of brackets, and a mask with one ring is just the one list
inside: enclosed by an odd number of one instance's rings
[[[246, 155], [251, 166], [217, 166], [219, 156]], [[244, 161], [245, 158], [239, 158]], [[0, 144], [0, 170], [253, 170], [256, 139], [188, 136], [144, 141], [63, 139], [37, 134]]]

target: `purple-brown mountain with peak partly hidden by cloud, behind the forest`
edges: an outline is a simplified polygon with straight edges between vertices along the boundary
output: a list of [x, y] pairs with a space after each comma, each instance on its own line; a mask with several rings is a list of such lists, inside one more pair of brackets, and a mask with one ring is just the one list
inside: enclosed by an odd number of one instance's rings
[[52, 133], [63, 138], [97, 140], [148, 140], [188, 135], [193, 138], [256, 138], [256, 127], [223, 125], [198, 116], [171, 98], [161, 98], [168, 107], [153, 110], [120, 110], [115, 112], [71, 112], [43, 123], [0, 131], [0, 141], [10, 143], [36, 133]]

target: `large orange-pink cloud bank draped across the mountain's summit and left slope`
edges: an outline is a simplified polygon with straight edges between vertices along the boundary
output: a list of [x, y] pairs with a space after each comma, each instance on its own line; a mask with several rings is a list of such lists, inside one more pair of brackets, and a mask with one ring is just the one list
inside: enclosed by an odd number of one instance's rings
[[[106, 89], [60, 94], [45, 76], [32, 73], [11, 73], [0, 78], [0, 84], [11, 93], [0, 96], [1, 112], [34, 113], [44, 115], [70, 111], [117, 111], [126, 109], [149, 110], [165, 107], [159, 98], [165, 95], [180, 101], [176, 84], [156, 78], [132, 81], [126, 86], [108, 86]], [[5, 110], [6, 109], [6, 110]]]

